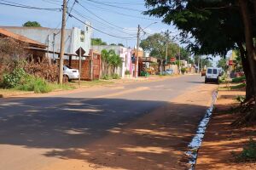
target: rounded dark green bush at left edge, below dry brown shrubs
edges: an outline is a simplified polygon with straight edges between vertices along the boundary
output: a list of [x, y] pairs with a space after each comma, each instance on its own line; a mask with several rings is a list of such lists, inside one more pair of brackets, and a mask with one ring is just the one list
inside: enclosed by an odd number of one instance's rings
[[23, 77], [26, 77], [26, 72], [21, 68], [15, 68], [11, 73], [3, 75], [3, 82], [1, 83], [2, 88], [15, 88]]

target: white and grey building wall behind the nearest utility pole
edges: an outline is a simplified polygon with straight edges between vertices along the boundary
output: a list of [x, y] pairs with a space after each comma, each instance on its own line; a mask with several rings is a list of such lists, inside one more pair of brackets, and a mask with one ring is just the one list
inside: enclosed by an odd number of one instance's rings
[[[89, 23], [90, 24], [90, 23]], [[0, 26], [1, 28], [12, 31], [21, 36], [29, 37], [37, 42], [44, 43], [51, 52], [60, 52], [61, 49], [61, 30], [45, 27], [16, 27], [16, 26]], [[91, 28], [84, 26], [83, 29], [73, 27], [66, 29], [65, 32], [65, 54], [75, 54], [80, 47], [84, 48], [87, 55], [90, 52], [91, 44]], [[52, 59], [57, 55], [49, 54]], [[76, 59], [76, 57], [73, 57]]]

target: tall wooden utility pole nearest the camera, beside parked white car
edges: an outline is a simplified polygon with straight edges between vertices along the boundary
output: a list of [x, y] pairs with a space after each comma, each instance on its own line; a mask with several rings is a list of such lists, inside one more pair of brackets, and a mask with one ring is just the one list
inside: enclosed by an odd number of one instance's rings
[[66, 27], [67, 0], [63, 0], [62, 5], [62, 25], [61, 25], [61, 53], [59, 63], [59, 84], [63, 82], [63, 58], [65, 50], [65, 27]]

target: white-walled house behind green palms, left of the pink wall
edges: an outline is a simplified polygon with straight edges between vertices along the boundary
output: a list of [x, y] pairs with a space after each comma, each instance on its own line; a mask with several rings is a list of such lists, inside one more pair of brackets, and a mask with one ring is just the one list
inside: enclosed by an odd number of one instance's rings
[[113, 49], [115, 54], [118, 54], [119, 57], [123, 60], [123, 64], [121, 67], [118, 68], [117, 72], [119, 73], [120, 77], [125, 77], [125, 71], [130, 71], [132, 73], [132, 62], [131, 62], [131, 48], [125, 48], [122, 46], [116, 45], [94, 45], [92, 49], [102, 52], [103, 49]]

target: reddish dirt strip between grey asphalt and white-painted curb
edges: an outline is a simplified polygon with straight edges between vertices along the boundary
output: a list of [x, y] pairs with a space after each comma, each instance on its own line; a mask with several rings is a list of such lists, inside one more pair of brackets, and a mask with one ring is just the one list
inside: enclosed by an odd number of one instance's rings
[[[184, 151], [211, 104], [216, 85], [200, 85], [125, 128], [113, 128], [84, 148], [66, 150], [44, 170], [187, 169]], [[56, 150], [56, 155], [60, 155]]]

